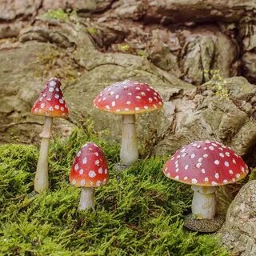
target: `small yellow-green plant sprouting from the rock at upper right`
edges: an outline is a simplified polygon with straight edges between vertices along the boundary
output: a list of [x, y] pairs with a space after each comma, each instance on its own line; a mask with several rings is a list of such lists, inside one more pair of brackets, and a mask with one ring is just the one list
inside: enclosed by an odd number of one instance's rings
[[226, 89], [226, 80], [222, 78], [220, 70], [204, 70], [205, 77], [214, 82], [215, 95], [221, 99], [229, 99], [229, 90]]

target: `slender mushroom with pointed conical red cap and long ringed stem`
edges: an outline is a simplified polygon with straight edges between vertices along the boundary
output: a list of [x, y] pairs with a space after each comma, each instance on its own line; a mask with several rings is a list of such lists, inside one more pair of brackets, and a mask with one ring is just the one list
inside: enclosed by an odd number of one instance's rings
[[34, 190], [42, 192], [49, 187], [48, 181], [48, 151], [51, 137], [53, 118], [67, 118], [69, 110], [60, 89], [61, 82], [58, 78], [50, 78], [46, 82], [44, 90], [40, 93], [34, 106], [32, 114], [45, 116], [45, 122], [42, 133], [41, 148], [38, 158], [38, 166], [34, 179]]

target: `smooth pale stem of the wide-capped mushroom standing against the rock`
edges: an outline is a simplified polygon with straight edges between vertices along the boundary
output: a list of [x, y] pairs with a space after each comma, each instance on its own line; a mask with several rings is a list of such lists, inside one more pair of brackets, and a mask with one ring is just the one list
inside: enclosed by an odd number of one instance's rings
[[129, 166], [138, 160], [138, 144], [134, 114], [122, 115], [122, 145], [120, 158], [123, 164]]

